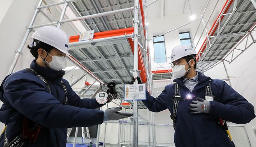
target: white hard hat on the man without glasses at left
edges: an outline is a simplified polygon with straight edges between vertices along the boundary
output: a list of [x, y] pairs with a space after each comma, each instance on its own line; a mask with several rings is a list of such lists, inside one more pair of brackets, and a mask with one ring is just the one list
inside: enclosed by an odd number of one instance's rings
[[40, 27], [31, 37], [42, 41], [43, 43], [49, 44], [61, 52], [69, 55], [69, 35], [58, 27]]

